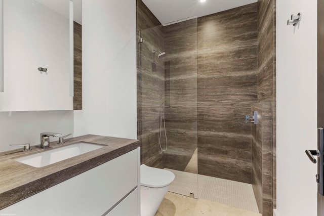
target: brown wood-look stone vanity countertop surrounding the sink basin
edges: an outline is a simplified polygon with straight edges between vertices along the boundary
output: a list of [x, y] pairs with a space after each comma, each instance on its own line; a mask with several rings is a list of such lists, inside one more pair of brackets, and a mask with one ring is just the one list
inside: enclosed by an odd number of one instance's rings
[[55, 141], [51, 142], [50, 146], [55, 149], [79, 141], [107, 146], [39, 168], [13, 159], [46, 151], [44, 149], [31, 146], [32, 151], [28, 152], [21, 152], [19, 149], [0, 152], [0, 209], [57, 185], [140, 146], [138, 140], [97, 135], [85, 135], [66, 139], [64, 144], [57, 144], [57, 141]]

